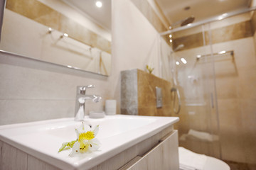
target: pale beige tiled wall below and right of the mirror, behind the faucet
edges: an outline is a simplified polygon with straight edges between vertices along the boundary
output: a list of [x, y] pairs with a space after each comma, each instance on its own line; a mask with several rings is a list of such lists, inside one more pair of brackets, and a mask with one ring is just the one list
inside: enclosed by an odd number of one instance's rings
[[[125, 18], [125, 19], [124, 19]], [[120, 72], [145, 69], [154, 63], [160, 76], [159, 41], [164, 40], [129, 0], [112, 1], [112, 69], [110, 77], [58, 67], [0, 52], [0, 125], [73, 117], [76, 86], [95, 84], [87, 94], [102, 101], [86, 101], [86, 113], [103, 110], [105, 100], [117, 100], [120, 113]]]

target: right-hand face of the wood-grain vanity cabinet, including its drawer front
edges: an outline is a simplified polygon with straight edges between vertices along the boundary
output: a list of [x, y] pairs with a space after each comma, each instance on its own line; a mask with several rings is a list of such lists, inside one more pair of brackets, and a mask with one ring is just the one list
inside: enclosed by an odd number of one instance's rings
[[178, 170], [178, 131], [171, 125], [90, 170]]

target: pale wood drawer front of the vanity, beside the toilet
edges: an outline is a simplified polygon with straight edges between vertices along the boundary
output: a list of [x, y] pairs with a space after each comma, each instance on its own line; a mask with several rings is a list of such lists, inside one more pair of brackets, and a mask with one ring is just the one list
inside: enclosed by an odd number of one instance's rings
[[178, 170], [178, 132], [174, 130], [164, 137], [153, 149], [147, 152], [142, 159], [127, 168], [129, 170]]

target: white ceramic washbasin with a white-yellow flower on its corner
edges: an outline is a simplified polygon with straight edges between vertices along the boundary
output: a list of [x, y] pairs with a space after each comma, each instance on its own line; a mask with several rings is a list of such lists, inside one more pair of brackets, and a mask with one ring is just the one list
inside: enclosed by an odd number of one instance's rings
[[100, 119], [85, 117], [85, 123], [100, 125], [96, 137], [102, 146], [96, 152], [83, 154], [83, 157], [68, 157], [70, 150], [58, 153], [63, 142], [76, 140], [75, 128], [81, 123], [75, 122], [73, 118], [2, 125], [0, 140], [60, 169], [85, 169], [85, 167], [90, 169], [176, 122], [178, 122], [176, 117], [139, 115], [109, 115]]

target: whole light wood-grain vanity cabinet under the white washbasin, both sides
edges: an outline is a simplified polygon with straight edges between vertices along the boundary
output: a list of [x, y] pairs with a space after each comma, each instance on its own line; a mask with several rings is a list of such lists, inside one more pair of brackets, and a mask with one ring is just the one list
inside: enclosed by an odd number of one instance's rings
[[[58, 170], [31, 154], [0, 140], [0, 170]], [[85, 166], [80, 169], [87, 169]], [[79, 169], [79, 170], [80, 170]], [[178, 132], [173, 125], [114, 155], [90, 170], [178, 170]], [[74, 169], [75, 170], [75, 169]]]

